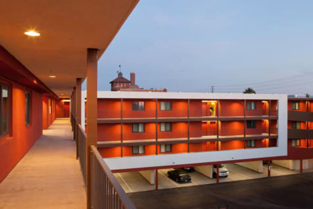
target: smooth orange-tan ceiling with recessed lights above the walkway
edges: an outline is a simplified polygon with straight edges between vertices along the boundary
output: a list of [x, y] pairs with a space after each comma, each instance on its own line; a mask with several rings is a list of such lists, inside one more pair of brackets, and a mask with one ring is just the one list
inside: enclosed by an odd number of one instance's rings
[[[100, 58], [138, 1], [2, 0], [0, 44], [58, 96], [69, 96], [75, 79], [86, 77], [86, 49], [100, 49]], [[29, 29], [41, 36], [25, 35]]]

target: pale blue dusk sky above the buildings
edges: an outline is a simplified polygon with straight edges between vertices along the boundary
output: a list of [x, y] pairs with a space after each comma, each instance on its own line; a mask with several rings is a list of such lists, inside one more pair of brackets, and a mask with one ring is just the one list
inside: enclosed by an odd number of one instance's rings
[[168, 91], [312, 91], [313, 1], [141, 0], [102, 55], [98, 90], [136, 73]]

